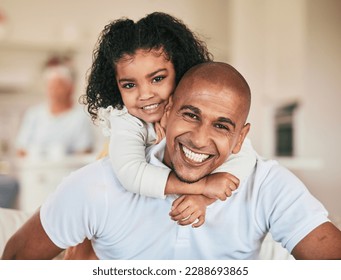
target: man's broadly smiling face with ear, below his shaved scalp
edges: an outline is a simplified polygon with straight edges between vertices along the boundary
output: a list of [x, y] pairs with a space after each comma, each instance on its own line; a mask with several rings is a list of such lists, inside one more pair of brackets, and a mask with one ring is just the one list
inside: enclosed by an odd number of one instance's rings
[[179, 84], [168, 113], [164, 161], [180, 180], [198, 181], [239, 152], [249, 130], [248, 106], [235, 91], [200, 77]]

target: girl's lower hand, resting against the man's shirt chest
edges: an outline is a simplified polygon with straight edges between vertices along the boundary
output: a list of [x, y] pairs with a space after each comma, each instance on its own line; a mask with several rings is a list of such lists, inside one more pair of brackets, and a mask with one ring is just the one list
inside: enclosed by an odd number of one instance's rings
[[192, 224], [192, 227], [200, 227], [205, 222], [207, 205], [214, 201], [215, 199], [203, 195], [182, 195], [174, 200], [169, 215], [179, 225]]

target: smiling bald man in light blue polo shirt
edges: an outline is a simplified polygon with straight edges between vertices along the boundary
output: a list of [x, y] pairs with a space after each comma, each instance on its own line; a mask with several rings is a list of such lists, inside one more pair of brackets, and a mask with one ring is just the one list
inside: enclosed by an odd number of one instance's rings
[[[151, 149], [150, 163], [172, 168], [187, 183], [219, 169], [250, 129], [250, 100], [232, 66], [195, 66], [174, 93], [166, 139]], [[169, 219], [173, 201], [127, 192], [104, 158], [65, 179], [11, 238], [3, 258], [53, 258], [89, 239], [99, 259], [257, 259], [268, 232], [295, 258], [341, 258], [341, 232], [325, 208], [275, 161], [257, 159], [228, 200], [207, 208], [200, 228]]]

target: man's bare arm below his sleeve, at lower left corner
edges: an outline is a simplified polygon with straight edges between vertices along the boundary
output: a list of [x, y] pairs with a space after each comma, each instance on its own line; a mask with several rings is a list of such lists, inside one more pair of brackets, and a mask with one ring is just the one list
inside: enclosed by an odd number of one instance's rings
[[45, 233], [37, 211], [7, 242], [2, 259], [53, 259], [62, 250]]

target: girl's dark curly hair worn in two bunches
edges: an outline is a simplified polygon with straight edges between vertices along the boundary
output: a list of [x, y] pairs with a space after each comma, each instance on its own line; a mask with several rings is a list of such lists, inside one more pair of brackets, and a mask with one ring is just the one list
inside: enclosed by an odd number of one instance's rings
[[174, 65], [176, 84], [192, 66], [213, 57], [206, 44], [181, 20], [165, 13], [149, 14], [136, 23], [121, 18], [104, 27], [93, 53], [86, 94], [81, 96], [93, 121], [98, 108], [111, 105], [121, 109], [124, 105], [115, 78], [115, 64], [138, 49], [159, 48], [163, 48]]

